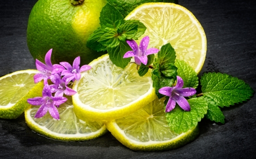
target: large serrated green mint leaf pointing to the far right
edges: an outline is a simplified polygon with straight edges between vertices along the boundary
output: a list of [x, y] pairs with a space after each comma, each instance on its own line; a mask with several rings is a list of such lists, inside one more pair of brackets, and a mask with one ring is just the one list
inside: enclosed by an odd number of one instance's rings
[[253, 96], [253, 89], [243, 80], [227, 74], [208, 73], [201, 77], [203, 95], [218, 106], [234, 105]]

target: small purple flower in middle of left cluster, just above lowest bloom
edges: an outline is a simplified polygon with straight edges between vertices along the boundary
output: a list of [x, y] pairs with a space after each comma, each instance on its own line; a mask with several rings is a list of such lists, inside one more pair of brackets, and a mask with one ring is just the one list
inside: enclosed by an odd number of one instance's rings
[[72, 96], [73, 94], [76, 94], [76, 91], [69, 88], [67, 86], [68, 83], [65, 83], [65, 77], [61, 79], [60, 74], [55, 74], [51, 76], [51, 81], [53, 84], [49, 85], [51, 88], [51, 93], [55, 92], [55, 97], [62, 97], [63, 94], [66, 94], [67, 96]]

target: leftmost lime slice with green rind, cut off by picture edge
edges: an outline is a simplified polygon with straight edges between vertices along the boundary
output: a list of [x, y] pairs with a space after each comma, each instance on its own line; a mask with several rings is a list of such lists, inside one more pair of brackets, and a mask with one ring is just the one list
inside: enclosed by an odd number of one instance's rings
[[22, 70], [0, 78], [0, 118], [15, 119], [30, 104], [27, 99], [42, 96], [43, 83], [34, 83], [38, 70]]

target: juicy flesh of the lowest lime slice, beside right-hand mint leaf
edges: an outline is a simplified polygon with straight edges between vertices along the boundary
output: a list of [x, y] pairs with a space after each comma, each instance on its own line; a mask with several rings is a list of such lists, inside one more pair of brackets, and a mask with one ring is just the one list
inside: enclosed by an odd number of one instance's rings
[[127, 117], [115, 119], [115, 122], [127, 137], [135, 141], [171, 140], [179, 134], [168, 127], [163, 108], [163, 100], [154, 100]]

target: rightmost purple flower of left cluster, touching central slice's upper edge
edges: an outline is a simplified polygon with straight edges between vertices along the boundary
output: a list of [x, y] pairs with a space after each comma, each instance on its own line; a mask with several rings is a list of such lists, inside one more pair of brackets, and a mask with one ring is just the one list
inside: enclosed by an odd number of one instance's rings
[[[73, 62], [73, 67], [68, 63], [68, 62], [60, 62], [60, 65], [64, 66], [67, 70], [63, 70], [61, 71], [61, 76], [64, 76], [65, 79], [67, 79], [65, 82], [69, 82], [71, 80], [75, 81], [75, 80], [79, 80], [81, 78], [80, 73], [90, 70], [89, 65], [83, 65], [80, 68], [80, 57], [75, 58], [74, 62]], [[59, 67], [60, 69], [60, 67]]]

